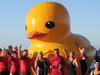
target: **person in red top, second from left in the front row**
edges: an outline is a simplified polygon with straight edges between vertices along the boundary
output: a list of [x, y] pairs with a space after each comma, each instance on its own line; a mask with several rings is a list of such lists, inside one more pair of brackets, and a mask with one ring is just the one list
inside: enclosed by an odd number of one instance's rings
[[12, 51], [11, 53], [11, 67], [10, 67], [10, 75], [20, 75], [20, 63], [18, 58], [18, 53], [16, 51]]

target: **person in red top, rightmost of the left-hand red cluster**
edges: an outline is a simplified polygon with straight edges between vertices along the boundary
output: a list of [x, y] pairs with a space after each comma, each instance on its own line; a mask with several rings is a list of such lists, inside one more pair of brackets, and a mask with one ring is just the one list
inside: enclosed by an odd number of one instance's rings
[[24, 50], [20, 57], [20, 72], [22, 75], [31, 75], [31, 58], [28, 57], [28, 50]]

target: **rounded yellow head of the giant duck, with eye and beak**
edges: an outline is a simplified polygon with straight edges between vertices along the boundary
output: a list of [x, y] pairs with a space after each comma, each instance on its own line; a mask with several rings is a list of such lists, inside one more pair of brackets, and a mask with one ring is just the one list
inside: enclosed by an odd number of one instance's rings
[[56, 2], [37, 4], [26, 16], [26, 31], [28, 39], [61, 40], [70, 33], [68, 11]]

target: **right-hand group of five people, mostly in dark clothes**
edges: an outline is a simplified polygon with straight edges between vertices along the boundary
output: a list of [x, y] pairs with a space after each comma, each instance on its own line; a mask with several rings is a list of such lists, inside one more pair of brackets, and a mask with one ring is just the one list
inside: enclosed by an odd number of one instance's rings
[[[100, 75], [100, 57], [95, 57], [94, 67], [90, 69], [89, 58], [84, 48], [79, 48], [81, 59], [77, 60], [75, 53], [70, 52], [64, 60], [63, 56], [59, 54], [59, 49], [54, 49], [54, 56], [49, 61], [49, 68], [52, 70], [51, 75], [64, 75], [64, 68], [67, 68], [67, 75], [80, 75], [76, 73], [76, 69], [81, 66], [81, 75]], [[80, 62], [80, 63], [79, 63]], [[37, 75], [47, 75], [47, 60], [40, 52], [35, 61]]]

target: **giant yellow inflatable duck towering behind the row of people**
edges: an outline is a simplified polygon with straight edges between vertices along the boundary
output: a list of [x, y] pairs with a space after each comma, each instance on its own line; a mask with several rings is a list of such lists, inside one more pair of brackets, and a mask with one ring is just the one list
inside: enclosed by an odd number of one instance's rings
[[[79, 59], [77, 43], [85, 47], [89, 57], [93, 56], [90, 42], [83, 36], [73, 34], [70, 30], [70, 17], [67, 9], [56, 2], [43, 2], [33, 6], [26, 16], [27, 38], [32, 40], [29, 54], [43, 51], [49, 58], [55, 48], [65, 58], [65, 52], [74, 51]], [[78, 74], [81, 75], [81, 74]]]

